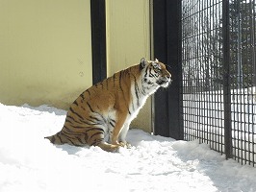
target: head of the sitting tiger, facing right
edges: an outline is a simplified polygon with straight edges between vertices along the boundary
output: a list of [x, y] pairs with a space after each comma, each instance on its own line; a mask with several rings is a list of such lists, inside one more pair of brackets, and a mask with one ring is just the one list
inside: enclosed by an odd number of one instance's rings
[[166, 69], [166, 65], [156, 60], [141, 59], [140, 69], [143, 71], [142, 83], [146, 87], [167, 87], [171, 83], [171, 75]]

